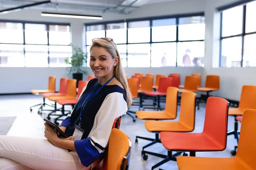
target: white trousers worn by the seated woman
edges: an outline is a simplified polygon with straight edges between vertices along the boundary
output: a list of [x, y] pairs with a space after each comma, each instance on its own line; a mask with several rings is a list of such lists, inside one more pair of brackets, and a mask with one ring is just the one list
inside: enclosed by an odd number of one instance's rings
[[0, 136], [0, 170], [90, 170], [47, 139]]

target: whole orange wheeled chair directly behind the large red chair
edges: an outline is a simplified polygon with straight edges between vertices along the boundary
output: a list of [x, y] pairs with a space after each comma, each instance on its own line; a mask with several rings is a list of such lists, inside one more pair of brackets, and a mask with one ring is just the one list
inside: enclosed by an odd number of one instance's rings
[[148, 152], [148, 151], [145, 151], [144, 149], [157, 142], [160, 142], [159, 140], [160, 132], [192, 132], [194, 130], [195, 128], [195, 96], [196, 94], [193, 92], [182, 93], [181, 103], [180, 103], [180, 119], [178, 121], [146, 120], [144, 122], [146, 129], [149, 132], [155, 133], [155, 139], [140, 137], [141, 139], [152, 141], [151, 143], [143, 146], [142, 148], [141, 153], [144, 160], [148, 159], [148, 156], [146, 154], [159, 156], [158, 153]]

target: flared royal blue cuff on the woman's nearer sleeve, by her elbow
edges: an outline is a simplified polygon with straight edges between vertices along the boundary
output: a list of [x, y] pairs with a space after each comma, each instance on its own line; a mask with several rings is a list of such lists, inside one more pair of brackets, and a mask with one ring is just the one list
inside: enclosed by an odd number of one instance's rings
[[81, 160], [81, 163], [88, 167], [96, 161], [100, 154], [99, 151], [91, 144], [89, 138], [75, 141], [76, 152]]

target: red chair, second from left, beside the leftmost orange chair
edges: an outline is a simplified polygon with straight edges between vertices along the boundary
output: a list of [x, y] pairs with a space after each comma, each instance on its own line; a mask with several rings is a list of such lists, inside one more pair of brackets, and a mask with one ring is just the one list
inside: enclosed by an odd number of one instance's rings
[[[65, 96], [67, 94], [67, 78], [61, 78], [60, 80], [60, 88], [59, 88], [59, 92], [58, 93], [42, 93], [41, 96], [43, 97], [44, 101], [46, 97], [49, 96]], [[55, 110], [57, 109], [56, 107], [56, 102], [54, 105], [52, 104], [48, 104], [51, 107], [54, 107]], [[52, 110], [45, 110], [45, 109], [41, 109], [38, 110], [38, 114], [42, 114], [42, 111], [52, 111]]]

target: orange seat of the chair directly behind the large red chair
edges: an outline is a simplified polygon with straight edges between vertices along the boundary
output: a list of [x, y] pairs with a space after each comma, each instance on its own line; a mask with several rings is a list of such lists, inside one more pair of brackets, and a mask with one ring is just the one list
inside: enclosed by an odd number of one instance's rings
[[[194, 130], [194, 127], [188, 127], [186, 125], [183, 125], [181, 122], [176, 121], [167, 122], [157, 120], [146, 120], [144, 124], [149, 132], [191, 132], [192, 130]], [[177, 140], [177, 142], [179, 140]]]

